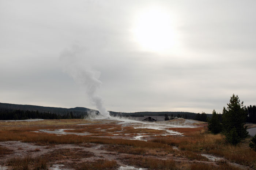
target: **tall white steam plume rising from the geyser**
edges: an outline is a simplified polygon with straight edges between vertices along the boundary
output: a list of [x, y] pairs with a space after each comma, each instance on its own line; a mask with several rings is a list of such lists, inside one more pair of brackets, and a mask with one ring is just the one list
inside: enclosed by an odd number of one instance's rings
[[[110, 117], [109, 112], [103, 106], [102, 98], [97, 94], [97, 90], [102, 84], [99, 80], [100, 72], [91, 69], [87, 63], [81, 64], [78, 61], [78, 56], [82, 55], [82, 52], [83, 49], [78, 46], [73, 46], [71, 49], [65, 49], [61, 52], [60, 61], [63, 64], [63, 70], [85, 89], [90, 101], [101, 113], [101, 118]], [[90, 116], [96, 118], [95, 113]]]

